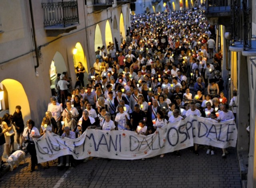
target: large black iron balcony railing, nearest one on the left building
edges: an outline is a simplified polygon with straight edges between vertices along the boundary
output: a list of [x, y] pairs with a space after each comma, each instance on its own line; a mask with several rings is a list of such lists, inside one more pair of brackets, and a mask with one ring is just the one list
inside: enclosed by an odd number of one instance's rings
[[69, 27], [79, 24], [77, 1], [42, 3], [44, 27]]

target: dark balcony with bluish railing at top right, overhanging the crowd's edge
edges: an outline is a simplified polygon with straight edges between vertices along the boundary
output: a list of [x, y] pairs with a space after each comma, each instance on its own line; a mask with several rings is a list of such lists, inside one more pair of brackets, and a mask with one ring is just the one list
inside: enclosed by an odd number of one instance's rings
[[230, 10], [230, 0], [206, 0], [205, 14], [212, 25], [224, 25], [231, 30]]

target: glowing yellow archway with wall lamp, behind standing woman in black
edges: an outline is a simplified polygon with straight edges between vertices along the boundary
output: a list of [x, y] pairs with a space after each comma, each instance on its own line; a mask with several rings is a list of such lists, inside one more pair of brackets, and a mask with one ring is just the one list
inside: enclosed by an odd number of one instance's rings
[[86, 85], [88, 83], [88, 79], [87, 79], [88, 78], [88, 65], [87, 65], [86, 57], [84, 55], [84, 49], [83, 49], [82, 45], [80, 44], [80, 42], [76, 43], [75, 50], [73, 50], [73, 61], [74, 61], [75, 69], [78, 66], [78, 62], [82, 63], [82, 65], [85, 69], [83, 80], [84, 80], [84, 85]]

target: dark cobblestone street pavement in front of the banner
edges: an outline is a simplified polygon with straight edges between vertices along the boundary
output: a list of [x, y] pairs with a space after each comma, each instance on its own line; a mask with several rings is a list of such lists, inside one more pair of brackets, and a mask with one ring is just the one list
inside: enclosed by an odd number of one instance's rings
[[107, 160], [93, 158], [75, 168], [60, 170], [50, 162], [50, 168], [38, 165], [30, 173], [30, 158], [26, 164], [7, 172], [0, 187], [172, 187], [172, 188], [240, 188], [240, 173], [236, 150], [230, 148], [226, 159], [221, 150], [215, 155], [206, 155], [206, 149], [199, 148], [199, 156], [188, 149], [181, 156], [169, 153], [160, 158], [142, 160]]

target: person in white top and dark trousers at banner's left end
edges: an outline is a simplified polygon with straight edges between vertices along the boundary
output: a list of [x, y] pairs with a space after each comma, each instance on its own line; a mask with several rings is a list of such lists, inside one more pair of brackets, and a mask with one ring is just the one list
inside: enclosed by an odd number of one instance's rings
[[26, 144], [27, 150], [31, 155], [31, 170], [30, 172], [34, 172], [35, 166], [37, 165], [37, 157], [36, 157], [36, 145], [33, 141], [33, 138], [40, 138], [40, 133], [35, 126], [33, 120], [29, 119], [27, 121], [27, 126], [24, 129], [22, 134], [22, 142]]

